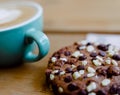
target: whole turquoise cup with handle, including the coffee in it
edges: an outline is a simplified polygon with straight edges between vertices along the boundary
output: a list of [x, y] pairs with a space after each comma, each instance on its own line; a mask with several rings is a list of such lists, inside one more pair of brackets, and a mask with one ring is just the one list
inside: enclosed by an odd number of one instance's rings
[[[43, 31], [43, 9], [30, 1], [0, 3], [0, 67], [42, 59], [49, 51]], [[38, 54], [33, 53], [35, 44]]]

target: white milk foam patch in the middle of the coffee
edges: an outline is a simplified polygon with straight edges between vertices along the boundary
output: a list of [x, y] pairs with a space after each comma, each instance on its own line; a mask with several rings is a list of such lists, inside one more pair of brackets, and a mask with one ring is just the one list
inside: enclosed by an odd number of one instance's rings
[[12, 22], [22, 15], [18, 9], [0, 9], [0, 24]]

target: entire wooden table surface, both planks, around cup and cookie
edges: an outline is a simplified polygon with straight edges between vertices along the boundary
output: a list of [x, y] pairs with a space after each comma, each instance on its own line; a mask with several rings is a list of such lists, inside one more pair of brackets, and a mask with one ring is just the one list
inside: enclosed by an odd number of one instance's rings
[[0, 69], [0, 95], [53, 95], [46, 86], [44, 72], [54, 51], [85, 39], [83, 32], [120, 31], [120, 0], [33, 1], [44, 8], [44, 31], [50, 39], [50, 52], [38, 62]]

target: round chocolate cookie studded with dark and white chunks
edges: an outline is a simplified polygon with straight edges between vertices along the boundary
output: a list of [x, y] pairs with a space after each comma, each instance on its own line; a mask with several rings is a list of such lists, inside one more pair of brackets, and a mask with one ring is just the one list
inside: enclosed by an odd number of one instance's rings
[[120, 50], [81, 41], [55, 52], [46, 70], [55, 95], [120, 95]]

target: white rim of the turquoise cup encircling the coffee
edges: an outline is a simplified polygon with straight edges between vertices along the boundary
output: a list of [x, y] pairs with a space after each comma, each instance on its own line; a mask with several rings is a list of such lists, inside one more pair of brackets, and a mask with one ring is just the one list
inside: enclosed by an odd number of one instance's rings
[[[16, 28], [19, 28], [19, 27], [22, 27], [22, 26], [25, 26], [33, 21], [35, 21], [37, 18], [39, 18], [40, 16], [42, 16], [42, 13], [43, 13], [43, 8], [41, 5], [39, 5], [38, 3], [35, 3], [33, 1], [8, 1], [7, 3], [6, 2], [3, 2], [3, 3], [0, 3], [0, 5], [2, 4], [10, 4], [10, 3], [18, 3], [18, 4], [22, 4], [22, 5], [29, 5], [29, 6], [33, 6], [37, 9], [37, 13], [31, 17], [31, 19], [28, 19], [26, 21], [24, 21], [23, 23], [19, 23], [19, 24], [16, 24], [16, 25], [13, 25], [13, 26], [10, 26], [8, 28], [4, 28], [4, 29], [0, 29], [0, 32], [4, 32], [4, 31], [8, 31], [8, 30], [12, 30], [12, 29], [16, 29]], [[40, 11], [39, 11], [40, 10]]]

